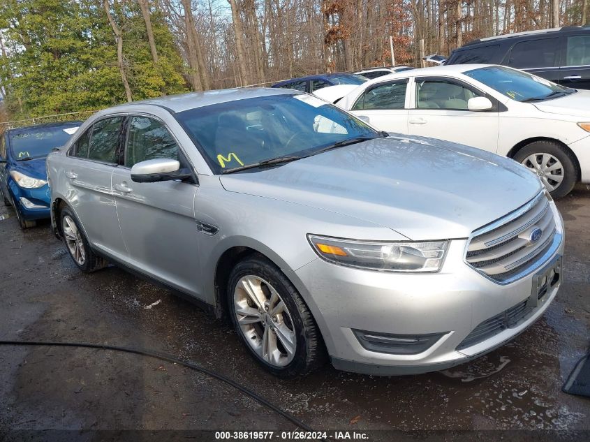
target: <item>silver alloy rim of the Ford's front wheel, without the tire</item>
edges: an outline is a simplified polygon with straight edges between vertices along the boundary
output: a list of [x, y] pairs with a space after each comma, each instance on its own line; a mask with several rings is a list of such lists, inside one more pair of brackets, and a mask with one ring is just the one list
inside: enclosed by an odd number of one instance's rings
[[247, 275], [237, 282], [233, 302], [239, 330], [254, 353], [274, 367], [288, 365], [297, 339], [281, 295], [264, 279]]

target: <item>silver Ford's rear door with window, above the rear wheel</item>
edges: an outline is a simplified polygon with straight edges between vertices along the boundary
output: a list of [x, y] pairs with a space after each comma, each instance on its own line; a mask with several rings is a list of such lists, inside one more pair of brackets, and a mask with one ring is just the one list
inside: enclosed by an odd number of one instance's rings
[[[82, 223], [89, 242], [97, 249], [121, 258], [125, 247], [117, 220], [111, 177], [117, 168], [124, 117], [96, 121], [68, 151], [59, 177], [64, 195]], [[60, 221], [61, 222], [61, 221]]]

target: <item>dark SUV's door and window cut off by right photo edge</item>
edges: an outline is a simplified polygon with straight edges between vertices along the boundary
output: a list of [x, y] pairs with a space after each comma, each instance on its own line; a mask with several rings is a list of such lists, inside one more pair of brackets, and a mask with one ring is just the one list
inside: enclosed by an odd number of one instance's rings
[[559, 84], [574, 89], [590, 89], [590, 35], [566, 37], [564, 52]]

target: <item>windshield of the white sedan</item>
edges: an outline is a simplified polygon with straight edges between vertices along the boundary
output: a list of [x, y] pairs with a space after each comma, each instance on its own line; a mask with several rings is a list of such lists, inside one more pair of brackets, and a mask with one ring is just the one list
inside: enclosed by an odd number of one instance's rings
[[503, 66], [487, 66], [464, 74], [516, 101], [540, 101], [575, 92], [575, 89]]

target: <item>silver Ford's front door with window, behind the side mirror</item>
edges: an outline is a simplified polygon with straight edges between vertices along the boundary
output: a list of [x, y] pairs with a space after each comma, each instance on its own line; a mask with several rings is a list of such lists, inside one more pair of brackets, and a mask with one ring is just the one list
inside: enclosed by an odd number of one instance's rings
[[131, 115], [124, 160], [112, 177], [113, 193], [126, 262], [185, 293], [200, 293], [200, 258], [194, 182], [138, 183], [131, 180], [134, 164], [150, 159], [175, 159], [192, 170], [176, 138], [152, 115]]

